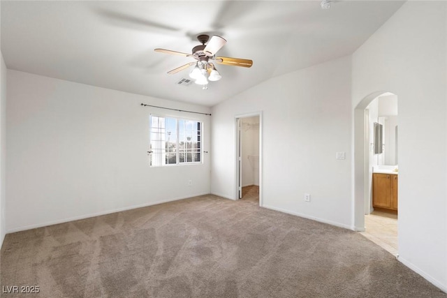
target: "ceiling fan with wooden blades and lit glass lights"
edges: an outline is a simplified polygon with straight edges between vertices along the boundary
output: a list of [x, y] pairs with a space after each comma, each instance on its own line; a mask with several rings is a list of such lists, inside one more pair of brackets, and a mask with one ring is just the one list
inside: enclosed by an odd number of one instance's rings
[[[216, 57], [217, 51], [219, 51], [226, 43], [225, 38], [222, 38], [221, 36], [213, 35], [212, 38], [210, 38], [207, 34], [200, 34], [197, 36], [197, 39], [202, 44], [193, 47], [191, 54], [165, 49], [154, 49], [155, 52], [192, 57], [193, 59], [196, 59], [196, 61], [189, 62], [189, 64], [185, 64], [168, 71], [168, 74], [173, 75], [174, 73], [178, 73], [180, 70], [196, 65], [191, 73], [189, 73], [189, 76], [195, 80], [196, 84], [200, 84], [203, 86], [203, 89], [207, 89], [208, 81], [218, 81], [222, 78], [214, 64], [210, 61], [215, 61], [217, 64], [230, 66], [251, 67], [253, 65], [253, 61], [249, 59]], [[205, 45], [205, 43], [207, 43], [207, 45]]]

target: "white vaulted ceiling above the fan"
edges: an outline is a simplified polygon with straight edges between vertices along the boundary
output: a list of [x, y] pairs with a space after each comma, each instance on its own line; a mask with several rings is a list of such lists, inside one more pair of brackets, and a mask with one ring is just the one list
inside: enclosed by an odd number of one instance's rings
[[[1, 1], [1, 52], [9, 69], [212, 106], [270, 77], [353, 53], [402, 1]], [[199, 33], [226, 38], [207, 90], [176, 83]]]

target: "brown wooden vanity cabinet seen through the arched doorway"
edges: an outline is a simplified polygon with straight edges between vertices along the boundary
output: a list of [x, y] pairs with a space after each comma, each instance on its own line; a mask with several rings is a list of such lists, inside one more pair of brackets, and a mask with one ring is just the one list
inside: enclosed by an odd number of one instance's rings
[[397, 174], [372, 174], [372, 206], [397, 211]]

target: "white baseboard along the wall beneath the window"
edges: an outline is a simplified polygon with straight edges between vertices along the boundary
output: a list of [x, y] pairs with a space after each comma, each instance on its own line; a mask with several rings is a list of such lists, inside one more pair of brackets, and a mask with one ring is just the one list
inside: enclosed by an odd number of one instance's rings
[[184, 200], [184, 199], [197, 197], [199, 195], [208, 195], [208, 194], [209, 193], [199, 193], [199, 194], [196, 194], [196, 195], [188, 195], [188, 196], [185, 196], [185, 197], [173, 198], [173, 199], [168, 199], [168, 200], [160, 200], [160, 201], [156, 201], [156, 202], [149, 202], [149, 203], [145, 203], [145, 204], [138, 204], [138, 205], [133, 205], [133, 206], [129, 206], [129, 207], [123, 207], [123, 208], [111, 209], [111, 210], [107, 210], [107, 211], [95, 212], [95, 213], [91, 213], [91, 214], [85, 214], [85, 215], [80, 215], [80, 216], [73, 216], [71, 218], [64, 218], [64, 219], [57, 220], [57, 221], [47, 221], [45, 223], [36, 223], [35, 225], [25, 225], [25, 226], [19, 227], [19, 228], [8, 229], [8, 230], [6, 230], [6, 233], [9, 234], [9, 233], [14, 233], [14, 232], [20, 232], [20, 231], [31, 230], [31, 229], [36, 229], [36, 228], [42, 228], [42, 227], [46, 227], [47, 225], [57, 225], [58, 223], [68, 223], [70, 221], [78, 221], [80, 219], [91, 218], [91, 217], [101, 216], [101, 215], [105, 215], [105, 214], [112, 214], [112, 213], [116, 213], [116, 212], [121, 212], [121, 211], [126, 211], [126, 210], [131, 210], [131, 209], [137, 209], [137, 208], [141, 208], [141, 207], [148, 207], [148, 206], [152, 206], [152, 205], [156, 205], [156, 204], [163, 204], [163, 203], [167, 203], [167, 202]]

